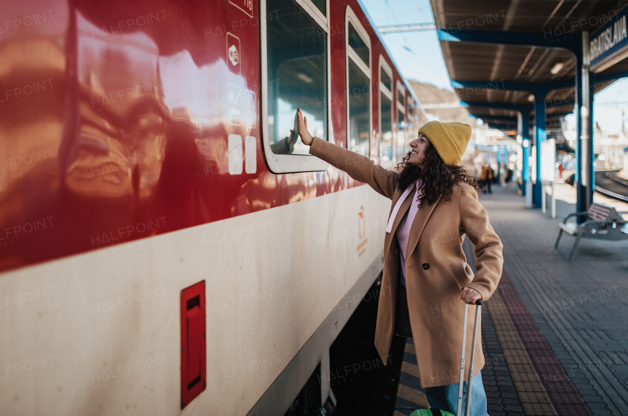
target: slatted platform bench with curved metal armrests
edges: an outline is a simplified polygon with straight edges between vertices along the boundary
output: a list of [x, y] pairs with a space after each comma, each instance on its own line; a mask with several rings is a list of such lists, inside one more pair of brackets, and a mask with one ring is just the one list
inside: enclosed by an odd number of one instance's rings
[[[584, 222], [567, 222], [570, 217], [584, 215], [587, 216]], [[560, 231], [554, 246], [556, 251], [558, 251], [558, 244], [563, 233], [576, 238], [569, 256], [570, 261], [576, 253], [581, 238], [597, 238], [611, 241], [628, 239], [628, 221], [624, 221], [615, 208], [609, 205], [598, 204], [597, 202], [593, 202], [588, 211], [569, 214], [561, 224], [558, 224], [558, 228]]]

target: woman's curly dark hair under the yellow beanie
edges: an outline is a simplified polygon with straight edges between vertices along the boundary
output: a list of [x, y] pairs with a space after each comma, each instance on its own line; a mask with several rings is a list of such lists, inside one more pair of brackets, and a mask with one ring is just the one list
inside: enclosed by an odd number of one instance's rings
[[423, 197], [419, 201], [419, 208], [426, 202], [428, 205], [434, 204], [439, 197], [443, 197], [445, 201], [452, 199], [453, 185], [458, 182], [464, 182], [480, 190], [479, 185], [475, 182], [473, 175], [458, 165], [447, 165], [441, 159], [436, 148], [428, 143], [425, 148], [425, 159], [423, 167], [418, 167], [409, 163], [408, 160], [412, 151], [409, 151], [406, 157], [397, 165], [399, 172], [399, 182], [397, 186], [400, 190], [406, 190], [417, 179], [421, 179], [421, 189]]

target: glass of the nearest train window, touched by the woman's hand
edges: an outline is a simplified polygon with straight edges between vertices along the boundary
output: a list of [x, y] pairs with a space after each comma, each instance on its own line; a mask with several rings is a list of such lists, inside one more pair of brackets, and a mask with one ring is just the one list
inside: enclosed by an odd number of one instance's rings
[[313, 136], [327, 140], [327, 33], [293, 0], [268, 0], [268, 140], [277, 154], [308, 155], [291, 133], [301, 108]]

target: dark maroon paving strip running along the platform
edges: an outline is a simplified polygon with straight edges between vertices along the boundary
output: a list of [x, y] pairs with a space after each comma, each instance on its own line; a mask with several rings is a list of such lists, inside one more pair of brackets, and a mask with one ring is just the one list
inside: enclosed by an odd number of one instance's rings
[[[560, 361], [558, 361], [558, 358], [556, 358], [555, 354], [549, 347], [549, 344], [543, 337], [543, 334], [541, 334], [538, 326], [534, 323], [532, 316], [521, 300], [521, 297], [519, 297], [519, 293], [517, 293], [516, 288], [512, 285], [512, 282], [505, 271], [502, 273], [502, 278], [499, 282], [499, 293], [503, 299], [502, 304], [504, 304], [507, 308], [507, 311], [512, 319], [512, 323], [517, 329], [518, 336], [528, 353], [529, 360], [531, 360], [533, 367], [536, 369], [535, 373], [538, 372], [538, 376], [540, 376], [539, 380], [543, 383], [544, 390], [551, 399], [551, 403], [553, 403], [553, 407], [556, 409], [558, 415], [592, 416], [593, 413], [590, 408], [588, 408], [587, 403], [582, 400], [582, 396], [580, 396], [576, 386], [573, 385], [571, 380], [565, 375], [563, 366], [561, 366]], [[494, 296], [495, 295], [493, 295], [493, 297]], [[493, 297], [488, 303], [492, 304]], [[513, 341], [512, 337], [508, 337], [507, 340], [504, 339], [504, 344]], [[500, 344], [501, 343], [502, 341], [500, 339]], [[506, 354], [506, 352], [504, 352], [504, 354]], [[508, 358], [506, 358], [506, 361], [508, 361]], [[516, 375], [513, 374], [512, 378], [515, 379]], [[529, 381], [521, 380], [516, 381], [515, 383], [529, 383]], [[519, 393], [518, 388], [517, 393]], [[521, 398], [521, 393], [519, 393], [519, 398]], [[541, 403], [539, 403], [539, 405]], [[526, 415], [533, 414], [528, 413], [529, 411], [546, 412], [547, 410], [547, 408], [543, 406], [526, 408], [526, 405], [524, 405], [523, 402], [522, 407], [524, 408]]]

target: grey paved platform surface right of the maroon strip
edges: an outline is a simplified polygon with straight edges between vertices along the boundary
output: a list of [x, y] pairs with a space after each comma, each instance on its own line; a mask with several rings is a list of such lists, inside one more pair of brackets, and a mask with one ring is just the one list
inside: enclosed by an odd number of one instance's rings
[[[551, 219], [539, 210], [523, 209], [518, 195], [494, 190], [482, 195], [480, 202], [489, 217], [503, 221], [495, 231], [504, 244], [504, 270], [510, 282], [502, 278], [499, 291], [505, 298], [509, 293], [519, 297], [506, 305], [556, 412], [561, 416], [628, 414], [628, 357], [622, 364], [606, 364], [594, 371], [570, 371], [608, 357], [607, 353], [628, 350], [628, 242], [583, 240], [576, 258], [566, 261], [551, 244], [541, 241], [562, 217], [575, 211], [573, 205], [558, 200], [556, 219]], [[628, 204], [624, 205], [623, 211], [628, 212]], [[607, 295], [610, 287], [614, 287], [612, 296], [600, 298], [601, 290]], [[591, 293], [597, 296], [595, 302], [578, 302]], [[512, 334], [499, 341], [517, 342]], [[561, 380], [561, 372], [568, 378]], [[517, 380], [519, 371], [511, 368], [511, 373]]]

